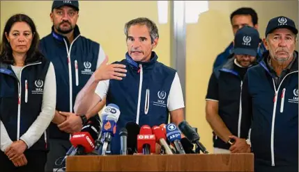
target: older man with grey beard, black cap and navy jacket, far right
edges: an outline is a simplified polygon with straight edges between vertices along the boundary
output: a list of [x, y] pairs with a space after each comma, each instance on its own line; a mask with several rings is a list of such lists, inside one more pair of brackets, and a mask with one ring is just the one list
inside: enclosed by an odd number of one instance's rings
[[292, 19], [270, 19], [263, 60], [248, 69], [243, 82], [243, 117], [252, 119], [249, 134], [254, 171], [298, 171], [298, 30]]

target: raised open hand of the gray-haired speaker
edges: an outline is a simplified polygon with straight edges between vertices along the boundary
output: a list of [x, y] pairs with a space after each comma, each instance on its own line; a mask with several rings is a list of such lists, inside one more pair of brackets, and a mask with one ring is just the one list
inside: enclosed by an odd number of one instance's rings
[[108, 56], [106, 55], [105, 60], [102, 62], [100, 67], [95, 70], [93, 73], [93, 77], [96, 81], [100, 80], [122, 80], [125, 77], [125, 73], [127, 70], [125, 69], [125, 65], [121, 64], [107, 64]]

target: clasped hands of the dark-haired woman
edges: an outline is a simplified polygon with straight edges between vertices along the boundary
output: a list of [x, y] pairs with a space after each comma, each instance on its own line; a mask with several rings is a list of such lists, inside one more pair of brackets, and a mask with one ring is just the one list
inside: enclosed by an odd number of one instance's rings
[[5, 150], [5, 154], [8, 156], [10, 161], [16, 160], [20, 155], [24, 153], [27, 145], [21, 139], [19, 141], [14, 141], [8, 148]]

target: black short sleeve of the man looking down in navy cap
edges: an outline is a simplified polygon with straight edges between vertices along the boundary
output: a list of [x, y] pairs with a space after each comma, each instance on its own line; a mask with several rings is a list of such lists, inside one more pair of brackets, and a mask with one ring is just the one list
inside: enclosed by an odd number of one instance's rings
[[218, 80], [215, 73], [210, 76], [208, 81], [208, 92], [206, 94], [206, 101], [219, 101], [218, 98]]

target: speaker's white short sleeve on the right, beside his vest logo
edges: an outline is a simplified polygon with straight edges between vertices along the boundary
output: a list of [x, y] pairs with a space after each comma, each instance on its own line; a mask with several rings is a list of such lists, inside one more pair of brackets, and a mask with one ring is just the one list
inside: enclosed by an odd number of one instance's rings
[[167, 100], [167, 108], [169, 111], [177, 110], [185, 107], [183, 92], [181, 87], [180, 78], [178, 77], [178, 73], [174, 76], [174, 80], [172, 81], [171, 88], [169, 91], [169, 96]]

